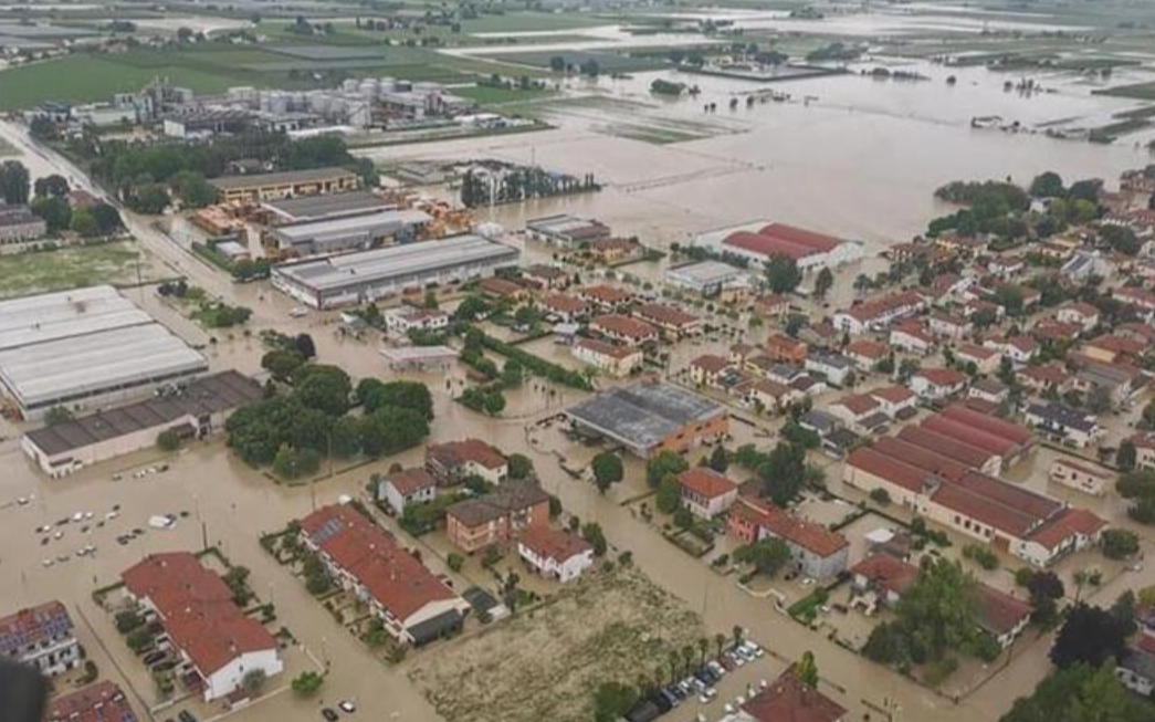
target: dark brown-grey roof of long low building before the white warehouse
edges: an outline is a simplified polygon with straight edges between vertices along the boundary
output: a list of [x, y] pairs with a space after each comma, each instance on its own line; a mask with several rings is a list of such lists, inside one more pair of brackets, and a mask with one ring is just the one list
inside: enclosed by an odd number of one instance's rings
[[214, 373], [189, 381], [177, 393], [118, 409], [30, 431], [28, 439], [50, 456], [117, 437], [154, 429], [184, 416], [202, 416], [236, 409], [264, 396], [253, 379], [236, 371]]

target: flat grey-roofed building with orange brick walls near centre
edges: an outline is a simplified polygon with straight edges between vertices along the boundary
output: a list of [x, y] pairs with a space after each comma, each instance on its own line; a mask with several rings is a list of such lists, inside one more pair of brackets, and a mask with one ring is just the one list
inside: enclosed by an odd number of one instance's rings
[[657, 381], [610, 388], [565, 411], [579, 433], [605, 437], [642, 459], [685, 453], [725, 436], [725, 407]]

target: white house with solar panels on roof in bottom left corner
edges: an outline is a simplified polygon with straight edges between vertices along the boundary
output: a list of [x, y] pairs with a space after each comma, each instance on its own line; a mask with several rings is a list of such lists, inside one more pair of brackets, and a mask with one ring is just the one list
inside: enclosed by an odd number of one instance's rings
[[60, 602], [45, 602], [0, 618], [0, 660], [55, 677], [80, 667], [76, 630]]

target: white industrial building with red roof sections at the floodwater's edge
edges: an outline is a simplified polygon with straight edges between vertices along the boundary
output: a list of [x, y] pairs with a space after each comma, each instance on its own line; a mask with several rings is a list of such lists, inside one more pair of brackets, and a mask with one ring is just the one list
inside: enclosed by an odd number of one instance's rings
[[755, 265], [785, 256], [795, 261], [803, 271], [836, 268], [863, 256], [860, 244], [785, 223], [765, 221], [702, 233], [694, 239], [693, 245], [744, 258]]

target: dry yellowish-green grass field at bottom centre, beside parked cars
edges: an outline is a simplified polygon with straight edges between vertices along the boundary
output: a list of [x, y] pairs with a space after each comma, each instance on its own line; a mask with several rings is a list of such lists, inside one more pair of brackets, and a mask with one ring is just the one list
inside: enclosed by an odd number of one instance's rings
[[633, 567], [587, 572], [556, 597], [416, 656], [410, 679], [447, 722], [588, 722], [605, 682], [669, 673], [701, 619]]

